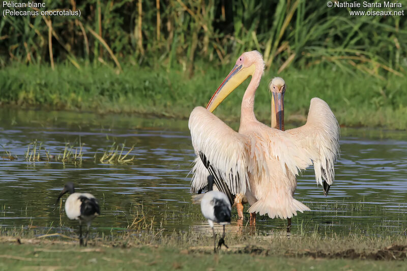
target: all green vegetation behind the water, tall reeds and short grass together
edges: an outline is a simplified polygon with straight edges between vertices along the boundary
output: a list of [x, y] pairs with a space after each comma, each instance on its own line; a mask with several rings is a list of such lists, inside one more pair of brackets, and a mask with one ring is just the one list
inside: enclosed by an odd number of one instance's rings
[[[353, 17], [304, 0], [45, 3], [81, 16], [2, 18], [1, 105], [186, 118], [256, 49], [267, 69], [256, 94], [261, 121], [270, 121], [267, 85], [278, 75], [287, 122], [304, 122], [319, 97], [341, 125], [407, 127], [407, 15]], [[216, 114], [238, 120], [246, 85]]]

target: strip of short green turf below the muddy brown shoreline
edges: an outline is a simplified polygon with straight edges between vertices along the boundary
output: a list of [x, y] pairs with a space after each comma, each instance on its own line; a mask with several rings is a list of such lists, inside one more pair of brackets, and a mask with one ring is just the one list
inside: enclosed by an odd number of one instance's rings
[[393, 270], [396, 261], [252, 256], [250, 254], [183, 254], [178, 248], [74, 248], [64, 245], [0, 245], [1, 270]]

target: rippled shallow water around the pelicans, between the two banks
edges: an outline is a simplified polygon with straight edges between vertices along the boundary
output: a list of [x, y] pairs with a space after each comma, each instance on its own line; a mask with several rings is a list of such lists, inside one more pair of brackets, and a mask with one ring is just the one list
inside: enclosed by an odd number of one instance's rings
[[[295, 198], [312, 211], [293, 219], [293, 232], [402, 232], [407, 224], [405, 131], [342, 129], [341, 133], [341, 157], [329, 196], [316, 186], [312, 168], [298, 177]], [[27, 146], [35, 140], [55, 156], [64, 152], [66, 142], [80, 140], [83, 161], [27, 162]], [[99, 162], [113, 142], [125, 142], [124, 153], [134, 145], [129, 154], [132, 163]], [[2, 228], [61, 231], [76, 226], [55, 205], [68, 181], [76, 184], [77, 191], [91, 192], [99, 199], [102, 216], [94, 220], [94, 231], [125, 230], [137, 213], [166, 232], [199, 230], [205, 225], [199, 206], [191, 204], [187, 175], [194, 154], [186, 121], [0, 109], [0, 144], [4, 146], [0, 156], [6, 156], [7, 150], [17, 157], [0, 160]], [[236, 209], [234, 215], [236, 220]], [[269, 233], [283, 229], [285, 223], [258, 217], [255, 230]]]

